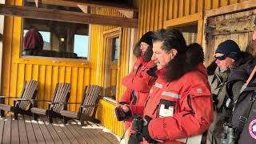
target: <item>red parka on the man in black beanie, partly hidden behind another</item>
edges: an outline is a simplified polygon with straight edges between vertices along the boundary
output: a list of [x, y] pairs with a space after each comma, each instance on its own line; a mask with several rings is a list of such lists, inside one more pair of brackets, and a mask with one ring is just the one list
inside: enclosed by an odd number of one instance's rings
[[[153, 61], [145, 62], [142, 57], [137, 59], [130, 74], [122, 78], [122, 85], [126, 86], [126, 91], [119, 102], [126, 102], [130, 105], [134, 103], [135, 106], [144, 106], [150, 88], [156, 80], [156, 78], [146, 73], [146, 71], [150, 70], [153, 66]], [[134, 102], [132, 97], [133, 90], [137, 96], [136, 102]], [[131, 120], [132, 119], [130, 119], [130, 121]], [[130, 121], [125, 122], [126, 129], [130, 127]]]

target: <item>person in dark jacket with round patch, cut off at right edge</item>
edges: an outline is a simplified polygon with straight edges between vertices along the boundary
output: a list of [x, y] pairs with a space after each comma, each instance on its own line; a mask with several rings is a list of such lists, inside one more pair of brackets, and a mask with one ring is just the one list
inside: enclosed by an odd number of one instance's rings
[[[256, 23], [256, 22], [255, 22]], [[256, 41], [256, 30], [252, 40]], [[252, 144], [256, 142], [256, 112], [255, 112], [255, 74], [248, 86], [248, 78], [256, 66], [256, 59], [253, 57], [242, 57], [242, 66], [233, 70], [227, 81], [226, 89], [229, 98], [234, 102], [231, 124], [237, 128], [238, 144]], [[252, 84], [252, 85], [251, 85]], [[246, 87], [254, 87], [252, 90]]]

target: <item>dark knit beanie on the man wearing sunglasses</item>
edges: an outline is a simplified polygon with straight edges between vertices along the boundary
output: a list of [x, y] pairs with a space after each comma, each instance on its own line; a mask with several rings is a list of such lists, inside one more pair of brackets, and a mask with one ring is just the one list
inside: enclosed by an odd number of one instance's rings
[[215, 53], [225, 54], [226, 57], [236, 61], [239, 59], [240, 52], [241, 50], [236, 42], [233, 40], [226, 40], [218, 45]]

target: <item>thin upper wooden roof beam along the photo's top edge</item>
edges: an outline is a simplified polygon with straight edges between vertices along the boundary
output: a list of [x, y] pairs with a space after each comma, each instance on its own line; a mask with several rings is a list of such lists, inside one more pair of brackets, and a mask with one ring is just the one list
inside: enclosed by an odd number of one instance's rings
[[[34, 0], [26, 0], [26, 2], [34, 2]], [[95, 2], [95, 1], [85, 1], [82, 2], [81, 0], [42, 0], [42, 3], [49, 4], [49, 5], [57, 5], [57, 6], [70, 6], [70, 7], [77, 7], [78, 5], [84, 6], [92, 6], [92, 7], [106, 7], [110, 9], [116, 10], [129, 10], [129, 11], [136, 11], [138, 9], [132, 6], [126, 6], [114, 2]]]

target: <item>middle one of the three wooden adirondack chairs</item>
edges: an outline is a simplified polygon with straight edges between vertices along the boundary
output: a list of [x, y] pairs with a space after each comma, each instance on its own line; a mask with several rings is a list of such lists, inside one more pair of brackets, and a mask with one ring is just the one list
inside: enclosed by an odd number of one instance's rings
[[31, 108], [34, 120], [38, 119], [38, 114], [47, 115], [49, 122], [53, 122], [53, 118], [59, 117], [61, 110], [66, 110], [66, 105], [62, 105], [63, 102], [68, 102], [70, 99], [70, 83], [57, 83], [54, 97], [51, 102], [48, 103], [48, 110], [38, 108], [38, 102], [34, 101], [34, 105]]

